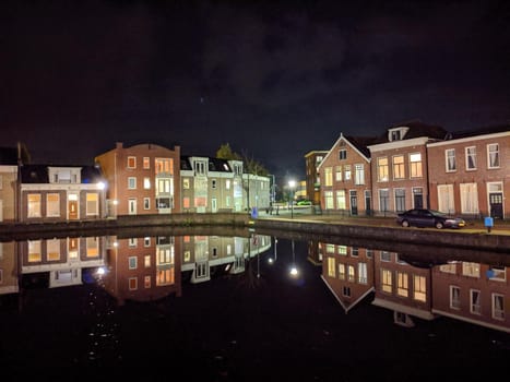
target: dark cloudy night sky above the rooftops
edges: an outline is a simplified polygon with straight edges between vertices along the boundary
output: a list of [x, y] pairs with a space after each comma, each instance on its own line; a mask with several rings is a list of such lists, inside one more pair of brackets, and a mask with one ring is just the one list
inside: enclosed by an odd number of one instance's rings
[[340, 133], [510, 121], [507, 1], [2, 0], [0, 146], [223, 143], [277, 176]]

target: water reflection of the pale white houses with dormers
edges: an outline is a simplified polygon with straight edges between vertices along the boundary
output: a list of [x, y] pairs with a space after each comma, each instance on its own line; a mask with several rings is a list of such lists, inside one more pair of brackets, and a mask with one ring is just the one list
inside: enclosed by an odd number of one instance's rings
[[246, 262], [271, 248], [271, 237], [183, 236], [182, 272], [190, 283], [207, 282], [215, 273], [242, 273]]

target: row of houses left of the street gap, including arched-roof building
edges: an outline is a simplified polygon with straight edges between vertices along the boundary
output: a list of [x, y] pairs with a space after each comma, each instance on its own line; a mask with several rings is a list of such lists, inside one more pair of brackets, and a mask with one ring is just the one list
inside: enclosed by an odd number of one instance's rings
[[24, 164], [0, 150], [0, 222], [57, 222], [119, 215], [268, 208], [270, 178], [242, 160], [181, 155], [180, 146], [115, 148], [94, 165]]

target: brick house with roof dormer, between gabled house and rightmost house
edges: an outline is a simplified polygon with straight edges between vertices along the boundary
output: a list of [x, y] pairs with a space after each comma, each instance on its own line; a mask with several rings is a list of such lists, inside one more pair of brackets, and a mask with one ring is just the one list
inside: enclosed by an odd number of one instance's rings
[[427, 144], [446, 136], [447, 131], [441, 127], [411, 121], [389, 128], [368, 146], [373, 208], [379, 214], [430, 205]]

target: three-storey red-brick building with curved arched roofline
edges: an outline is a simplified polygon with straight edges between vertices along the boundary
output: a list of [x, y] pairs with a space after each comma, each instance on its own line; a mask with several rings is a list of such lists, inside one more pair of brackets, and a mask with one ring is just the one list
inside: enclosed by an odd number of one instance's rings
[[180, 147], [118, 142], [95, 157], [107, 180], [107, 214], [143, 215], [180, 212]]

